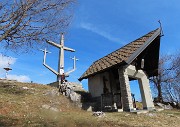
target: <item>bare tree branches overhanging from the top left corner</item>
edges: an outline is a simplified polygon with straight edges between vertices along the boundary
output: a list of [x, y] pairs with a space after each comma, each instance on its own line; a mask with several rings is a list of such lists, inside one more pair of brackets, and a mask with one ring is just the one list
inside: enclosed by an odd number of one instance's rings
[[29, 49], [56, 37], [69, 25], [75, 1], [0, 1], [0, 44]]

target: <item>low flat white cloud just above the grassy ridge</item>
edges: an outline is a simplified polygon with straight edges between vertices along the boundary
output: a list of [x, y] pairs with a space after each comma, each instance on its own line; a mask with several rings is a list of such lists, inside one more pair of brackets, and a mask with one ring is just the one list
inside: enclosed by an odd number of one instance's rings
[[18, 82], [30, 82], [31, 79], [26, 75], [8, 75], [8, 79], [17, 80]]

